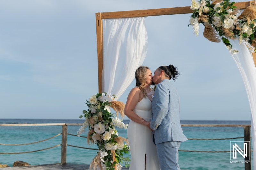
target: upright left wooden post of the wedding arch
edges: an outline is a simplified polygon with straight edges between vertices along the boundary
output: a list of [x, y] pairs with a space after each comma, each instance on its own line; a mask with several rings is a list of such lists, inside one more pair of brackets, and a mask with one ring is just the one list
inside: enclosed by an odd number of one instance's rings
[[98, 82], [99, 93], [102, 93], [102, 70], [103, 70], [103, 27], [101, 13], [96, 13], [96, 34], [98, 54]]

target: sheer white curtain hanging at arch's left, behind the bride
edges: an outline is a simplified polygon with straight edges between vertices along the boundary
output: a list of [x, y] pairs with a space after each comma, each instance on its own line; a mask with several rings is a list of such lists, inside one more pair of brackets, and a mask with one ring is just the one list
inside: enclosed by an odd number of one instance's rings
[[144, 17], [104, 19], [102, 92], [118, 99], [134, 79], [147, 50]]

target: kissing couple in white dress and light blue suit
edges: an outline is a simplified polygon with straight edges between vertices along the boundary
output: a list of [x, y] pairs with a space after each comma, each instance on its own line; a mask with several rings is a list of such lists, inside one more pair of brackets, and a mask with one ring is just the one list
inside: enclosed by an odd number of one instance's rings
[[[180, 97], [170, 81], [178, 75], [173, 65], [158, 67], [154, 76], [148, 67], [136, 70], [136, 87], [124, 108], [131, 119], [129, 170], [180, 170], [178, 149], [188, 139], [180, 126]], [[156, 85], [155, 91], [150, 85]]]

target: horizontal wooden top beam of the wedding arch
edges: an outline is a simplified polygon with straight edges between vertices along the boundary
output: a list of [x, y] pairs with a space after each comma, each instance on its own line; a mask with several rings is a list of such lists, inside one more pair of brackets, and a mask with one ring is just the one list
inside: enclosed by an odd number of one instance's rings
[[[238, 2], [234, 4], [239, 9], [245, 9], [250, 6], [250, 2]], [[102, 12], [101, 19], [110, 18], [132, 18], [132, 17], [149, 17], [159, 15], [174, 15], [174, 14], [188, 14], [193, 13], [190, 6], [174, 7], [174, 8], [160, 8], [150, 10], [136, 10], [136, 11], [117, 11], [117, 12]], [[99, 13], [96, 13], [96, 15]]]

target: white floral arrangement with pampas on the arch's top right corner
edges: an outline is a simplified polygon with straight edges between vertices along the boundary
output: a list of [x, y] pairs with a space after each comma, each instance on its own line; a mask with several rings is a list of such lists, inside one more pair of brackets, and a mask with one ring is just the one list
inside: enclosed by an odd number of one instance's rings
[[[230, 53], [238, 51], [232, 48], [228, 39], [239, 39], [239, 43], [245, 42], [247, 48], [253, 53], [256, 42], [256, 8], [247, 7], [240, 16], [236, 16], [239, 10], [234, 6], [235, 2], [229, 0], [191, 0], [190, 9], [194, 10], [189, 19], [189, 25], [193, 26], [194, 34], [199, 33], [199, 24], [205, 26], [204, 37], [212, 42], [220, 42], [226, 45]], [[236, 9], [236, 10], [234, 10]]]

